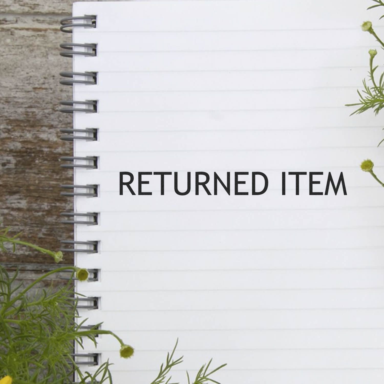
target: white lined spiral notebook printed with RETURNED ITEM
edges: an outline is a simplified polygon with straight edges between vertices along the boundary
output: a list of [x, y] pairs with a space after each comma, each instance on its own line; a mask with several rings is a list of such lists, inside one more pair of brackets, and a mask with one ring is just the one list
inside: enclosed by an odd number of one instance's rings
[[64, 248], [93, 272], [87, 324], [135, 348], [101, 335], [84, 370], [149, 384], [178, 338], [171, 382], [210, 358], [223, 384], [382, 382], [383, 191], [359, 169], [383, 171], [381, 121], [344, 106], [375, 46], [366, 6], [74, 3]]

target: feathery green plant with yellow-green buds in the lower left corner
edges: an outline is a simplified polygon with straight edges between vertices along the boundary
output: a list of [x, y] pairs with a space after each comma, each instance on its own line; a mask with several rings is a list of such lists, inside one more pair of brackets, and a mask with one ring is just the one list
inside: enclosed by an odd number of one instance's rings
[[[8, 228], [0, 231], [0, 248], [7, 250], [11, 245], [24, 245], [39, 252], [51, 255], [56, 262], [62, 259], [61, 252], [18, 240], [18, 235], [10, 237]], [[70, 279], [57, 290], [41, 290], [33, 294], [38, 283], [49, 276], [63, 271], [71, 273]], [[15, 384], [31, 383], [70, 383], [74, 372], [79, 382], [112, 383], [109, 362], [102, 364], [91, 374], [81, 372], [73, 359], [73, 345], [83, 347], [83, 339], [90, 339], [95, 347], [96, 336], [109, 334], [120, 344], [120, 355], [130, 357], [133, 348], [127, 346], [113, 332], [98, 329], [82, 329], [86, 319], [80, 319], [76, 310], [78, 299], [74, 292], [74, 279], [86, 281], [88, 271], [75, 266], [63, 266], [49, 271], [34, 280], [25, 288], [16, 283], [18, 271], [10, 276], [0, 265], [0, 377], [9, 375]]]

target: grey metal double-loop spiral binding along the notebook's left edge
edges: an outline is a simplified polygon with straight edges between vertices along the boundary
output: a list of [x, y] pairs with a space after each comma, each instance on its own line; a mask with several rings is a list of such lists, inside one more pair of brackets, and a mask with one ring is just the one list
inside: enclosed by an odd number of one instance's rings
[[[60, 21], [60, 30], [66, 33], [72, 33], [73, 28], [96, 28], [96, 15], [84, 15], [75, 17], [66, 17]], [[97, 56], [97, 45], [94, 43], [62, 43], [60, 48], [63, 50], [60, 52], [61, 56], [72, 58], [75, 55], [81, 56]], [[96, 72], [61, 72], [60, 84], [66, 86], [73, 86], [74, 84], [86, 84], [92, 86], [97, 83]], [[62, 108], [60, 112], [63, 113], [97, 113], [98, 102], [96, 100], [67, 100], [60, 102]], [[64, 141], [74, 140], [86, 140], [96, 141], [98, 139], [98, 130], [96, 128], [81, 128], [77, 129], [61, 129], [61, 133], [64, 135], [60, 137]], [[98, 157], [96, 156], [63, 156], [60, 157], [60, 161], [65, 162], [60, 164], [60, 167], [66, 169], [83, 168], [83, 169], [97, 169], [98, 168]], [[61, 192], [62, 196], [74, 197], [81, 196], [84, 198], [92, 198], [98, 195], [98, 185], [87, 184], [63, 184], [61, 188], [64, 192]], [[70, 225], [97, 225], [98, 224], [98, 213], [87, 212], [62, 212], [63, 217], [62, 223]], [[60, 249], [61, 252], [73, 252], [73, 253], [97, 253], [98, 252], [98, 241], [72, 241], [62, 240]], [[98, 281], [99, 270], [88, 270], [90, 275], [88, 281]], [[78, 309], [97, 310], [99, 308], [98, 297], [76, 297], [76, 306]], [[95, 326], [81, 326], [82, 329], [91, 329]], [[72, 355], [74, 362], [77, 365], [91, 365], [96, 366], [99, 364], [98, 353], [74, 353]], [[74, 382], [74, 377], [73, 377]]]

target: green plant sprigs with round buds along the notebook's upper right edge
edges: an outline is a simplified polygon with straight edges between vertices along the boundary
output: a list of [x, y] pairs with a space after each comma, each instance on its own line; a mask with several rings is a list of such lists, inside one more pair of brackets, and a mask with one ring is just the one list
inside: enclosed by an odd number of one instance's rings
[[[374, 2], [374, 5], [371, 5], [367, 9], [373, 9], [377, 7], [384, 7], [384, 2], [382, 0], [371, 0]], [[382, 15], [379, 20], [384, 18], [384, 15]], [[376, 31], [374, 30], [372, 26], [372, 22], [366, 21], [362, 23], [361, 29], [365, 32], [370, 33], [375, 40], [381, 45], [381, 48], [384, 48], [384, 42], [379, 38]], [[382, 72], [379, 76], [379, 78], [376, 78], [376, 71], [377, 68], [379, 68], [378, 65], [374, 65], [374, 58], [377, 55], [376, 49], [370, 49], [368, 51], [369, 53], [369, 71], [368, 71], [368, 81], [367, 83], [366, 79], [363, 79], [363, 89], [358, 90], [359, 95], [359, 102], [358, 103], [352, 103], [352, 104], [346, 104], [348, 107], [358, 107], [351, 115], [353, 114], [360, 114], [365, 111], [368, 111], [369, 109], [372, 109], [377, 115], [381, 109], [384, 108], [384, 72]], [[383, 128], [384, 129], [384, 128]], [[384, 141], [382, 139], [377, 146], [380, 146], [380, 144]], [[384, 183], [377, 177], [377, 175], [373, 172], [373, 162], [371, 160], [365, 160], [361, 163], [361, 169], [365, 172], [369, 172], [372, 177], [382, 186], [384, 187]]]

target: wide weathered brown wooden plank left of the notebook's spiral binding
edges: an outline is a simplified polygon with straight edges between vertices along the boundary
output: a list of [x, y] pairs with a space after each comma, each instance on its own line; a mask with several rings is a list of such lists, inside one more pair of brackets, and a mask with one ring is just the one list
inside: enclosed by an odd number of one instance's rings
[[[59, 101], [71, 98], [71, 87], [59, 84], [59, 71], [71, 68], [59, 55], [59, 43], [71, 38], [60, 32], [59, 20], [0, 18], [0, 222], [53, 250], [59, 240], [72, 238], [71, 226], [59, 223], [60, 212], [72, 209], [59, 187], [72, 180], [58, 162], [72, 153], [71, 143], [58, 139], [59, 128], [72, 126], [71, 116], [58, 111]], [[22, 259], [0, 254], [0, 262], [51, 262], [36, 252], [25, 252]], [[70, 254], [66, 262], [72, 262]]]

